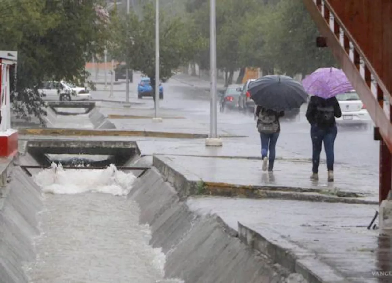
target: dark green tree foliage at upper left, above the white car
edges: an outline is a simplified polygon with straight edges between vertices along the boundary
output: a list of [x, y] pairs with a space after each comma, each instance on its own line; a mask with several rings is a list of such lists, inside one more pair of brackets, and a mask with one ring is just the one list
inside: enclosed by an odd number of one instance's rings
[[[109, 34], [96, 0], [0, 1], [0, 49], [18, 51], [14, 110], [42, 119], [45, 103], [38, 87], [46, 79], [84, 83], [84, 67], [102, 52]], [[42, 120], [41, 120], [42, 121]]]

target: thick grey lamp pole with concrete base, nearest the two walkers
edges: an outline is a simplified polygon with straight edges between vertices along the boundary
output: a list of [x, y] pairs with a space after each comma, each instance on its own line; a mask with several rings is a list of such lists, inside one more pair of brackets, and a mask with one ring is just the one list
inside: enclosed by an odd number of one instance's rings
[[211, 109], [210, 109], [210, 136], [206, 146], [222, 146], [218, 137], [216, 117], [216, 12], [215, 0], [210, 0], [210, 72], [211, 72]]

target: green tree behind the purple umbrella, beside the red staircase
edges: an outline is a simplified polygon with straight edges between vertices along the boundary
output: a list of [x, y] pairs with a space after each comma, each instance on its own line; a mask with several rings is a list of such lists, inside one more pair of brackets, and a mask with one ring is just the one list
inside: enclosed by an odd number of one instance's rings
[[265, 52], [267, 60], [289, 76], [309, 74], [336, 61], [329, 49], [316, 47], [319, 32], [302, 1], [281, 0], [264, 17]]

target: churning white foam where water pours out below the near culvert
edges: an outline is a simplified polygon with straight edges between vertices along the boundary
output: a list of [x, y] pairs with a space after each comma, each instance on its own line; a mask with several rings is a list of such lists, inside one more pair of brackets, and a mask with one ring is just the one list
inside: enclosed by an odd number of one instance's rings
[[61, 164], [52, 163], [50, 169], [42, 170], [34, 179], [44, 193], [72, 195], [92, 192], [121, 196], [128, 195], [136, 177], [132, 173], [118, 171], [113, 164], [106, 169], [64, 170]]

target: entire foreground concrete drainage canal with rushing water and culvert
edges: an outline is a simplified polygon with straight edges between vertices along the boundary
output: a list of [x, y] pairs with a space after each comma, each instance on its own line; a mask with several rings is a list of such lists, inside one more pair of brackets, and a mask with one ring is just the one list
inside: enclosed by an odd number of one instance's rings
[[0, 282], [296, 282], [147, 163], [132, 142], [28, 142], [2, 189]]

